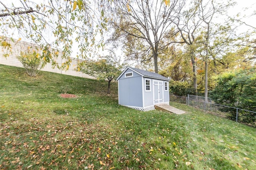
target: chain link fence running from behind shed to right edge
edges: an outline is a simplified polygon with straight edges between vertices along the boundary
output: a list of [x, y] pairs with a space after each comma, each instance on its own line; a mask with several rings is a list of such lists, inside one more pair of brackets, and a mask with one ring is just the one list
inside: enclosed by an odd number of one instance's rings
[[214, 103], [211, 98], [195, 95], [188, 95], [187, 97], [170, 95], [170, 101], [190, 105], [213, 115], [256, 127], [256, 112], [254, 111], [219, 105]]

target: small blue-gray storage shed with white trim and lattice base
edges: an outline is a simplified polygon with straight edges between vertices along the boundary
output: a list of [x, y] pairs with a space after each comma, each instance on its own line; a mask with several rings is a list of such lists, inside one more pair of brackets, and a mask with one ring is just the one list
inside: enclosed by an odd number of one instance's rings
[[140, 111], [154, 110], [154, 105], [169, 105], [170, 79], [142, 69], [126, 67], [118, 76], [118, 103]]

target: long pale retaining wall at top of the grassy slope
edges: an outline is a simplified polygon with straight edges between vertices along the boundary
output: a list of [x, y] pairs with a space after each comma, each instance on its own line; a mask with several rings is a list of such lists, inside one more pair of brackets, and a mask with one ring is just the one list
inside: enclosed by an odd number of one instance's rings
[[[16, 56], [20, 54], [20, 51], [25, 51], [26, 47], [28, 47], [28, 46], [36, 47], [36, 45], [33, 43], [28, 43], [28, 42], [23, 42], [23, 41], [18, 41], [18, 40], [14, 40], [14, 42], [12, 42], [10, 39], [8, 39], [7, 42], [11, 44], [11, 47], [12, 47], [11, 53], [10, 53], [10, 51], [8, 51], [7, 49], [4, 49], [0, 45], [0, 64], [16, 66], [16, 67], [23, 67], [22, 63], [20, 63], [20, 61], [16, 58]], [[54, 51], [54, 49], [52, 49], [52, 51]], [[6, 54], [6, 53], [9, 54], [8, 57], [4, 57], [4, 54]], [[58, 63], [58, 65], [61, 65], [65, 61], [65, 59], [62, 59], [61, 56], [62, 56], [62, 51], [59, 52], [59, 56], [56, 59], [56, 62]], [[47, 63], [44, 66], [44, 68], [41, 70], [42, 71], [50, 71], [50, 72], [54, 72], [54, 73], [60, 73], [60, 74], [66, 74], [66, 75], [73, 75], [73, 76], [78, 76], [78, 77], [84, 77], [84, 78], [89, 78], [89, 79], [95, 79], [95, 77], [92, 77], [90, 75], [87, 75], [85, 73], [75, 70], [77, 67], [77, 64], [82, 61], [83, 60], [81, 60], [81, 59], [72, 58], [72, 63], [70, 63], [68, 70], [60, 70], [57, 67], [52, 68], [52, 63]]]

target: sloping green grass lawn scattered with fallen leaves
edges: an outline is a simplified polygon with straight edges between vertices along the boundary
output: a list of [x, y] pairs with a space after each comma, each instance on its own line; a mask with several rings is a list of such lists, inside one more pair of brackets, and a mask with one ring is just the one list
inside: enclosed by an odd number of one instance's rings
[[256, 128], [178, 103], [186, 114], [136, 111], [106, 90], [0, 65], [0, 169], [256, 169]]

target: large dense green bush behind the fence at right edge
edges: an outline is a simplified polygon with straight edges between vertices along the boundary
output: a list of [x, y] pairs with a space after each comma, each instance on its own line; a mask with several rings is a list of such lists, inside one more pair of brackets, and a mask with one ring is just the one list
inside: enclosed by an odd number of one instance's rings
[[[249, 111], [256, 111], [256, 71], [241, 69], [235, 72], [223, 73], [218, 77], [217, 85], [210, 91], [210, 97], [215, 103], [230, 107], [237, 107]], [[235, 119], [236, 110], [227, 109]], [[240, 112], [240, 121], [255, 123], [256, 114]]]

